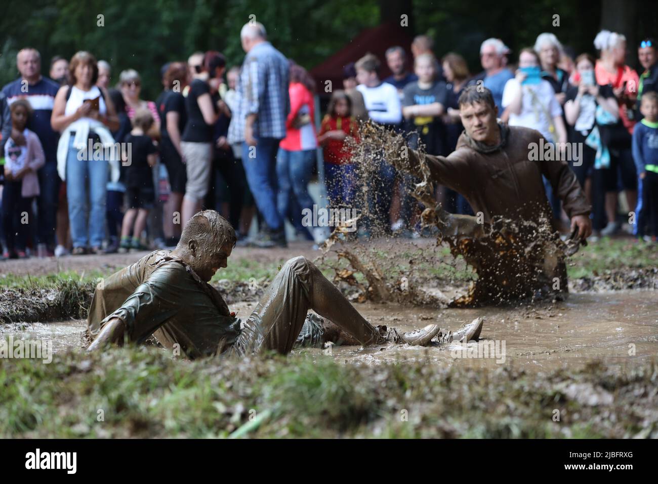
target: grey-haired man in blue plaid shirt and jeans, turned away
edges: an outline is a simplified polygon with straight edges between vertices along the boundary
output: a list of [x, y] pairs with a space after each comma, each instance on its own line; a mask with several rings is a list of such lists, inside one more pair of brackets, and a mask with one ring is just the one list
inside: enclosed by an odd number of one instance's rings
[[286, 246], [284, 221], [276, 209], [276, 152], [286, 137], [288, 59], [266, 40], [263, 24], [249, 22], [240, 31], [247, 53], [240, 72], [236, 112], [228, 142], [242, 144], [242, 164], [249, 188], [267, 227], [261, 247]]

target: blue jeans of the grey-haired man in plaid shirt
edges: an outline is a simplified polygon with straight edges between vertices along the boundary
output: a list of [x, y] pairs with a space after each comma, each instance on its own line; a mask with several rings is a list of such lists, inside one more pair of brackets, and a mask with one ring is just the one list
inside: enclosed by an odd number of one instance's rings
[[[249, 189], [259, 212], [270, 230], [283, 230], [283, 219], [276, 209], [276, 151], [280, 140], [257, 138], [257, 146], [242, 143], [242, 165], [247, 175]], [[251, 155], [251, 156], [250, 156]]]

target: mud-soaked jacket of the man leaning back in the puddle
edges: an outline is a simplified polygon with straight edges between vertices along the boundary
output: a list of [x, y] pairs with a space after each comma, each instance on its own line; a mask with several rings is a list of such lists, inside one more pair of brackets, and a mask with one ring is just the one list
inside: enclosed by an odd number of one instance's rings
[[92, 339], [116, 317], [131, 341], [139, 344], [154, 335], [165, 348], [180, 344], [188, 358], [221, 352], [236, 341], [240, 319], [213, 286], [171, 254], [152, 252], [96, 286], [87, 318]]

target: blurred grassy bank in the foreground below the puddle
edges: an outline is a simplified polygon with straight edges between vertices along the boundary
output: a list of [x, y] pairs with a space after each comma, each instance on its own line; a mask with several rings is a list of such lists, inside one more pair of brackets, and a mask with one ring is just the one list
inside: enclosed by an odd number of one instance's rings
[[655, 361], [537, 374], [116, 348], [0, 360], [0, 437], [656, 438], [657, 383]]

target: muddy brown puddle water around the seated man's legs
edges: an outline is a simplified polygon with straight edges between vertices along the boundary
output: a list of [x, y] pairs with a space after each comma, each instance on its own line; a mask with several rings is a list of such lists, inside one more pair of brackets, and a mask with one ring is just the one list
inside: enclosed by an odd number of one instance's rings
[[[253, 302], [240, 302], [230, 309], [245, 318], [254, 307]], [[437, 365], [490, 369], [513, 365], [529, 371], [592, 360], [628, 366], [658, 356], [658, 298], [653, 291], [570, 294], [565, 302], [517, 308], [432, 309], [372, 302], [355, 307], [372, 324], [403, 331], [430, 323], [454, 331], [478, 316], [486, 319], [480, 341], [470, 342], [466, 348], [459, 343], [430, 348], [332, 346], [294, 353], [368, 365], [427, 360]], [[0, 336], [52, 339], [57, 354], [67, 348], [82, 350], [85, 325], [82, 320], [0, 325]]]

